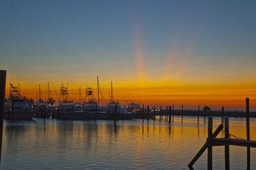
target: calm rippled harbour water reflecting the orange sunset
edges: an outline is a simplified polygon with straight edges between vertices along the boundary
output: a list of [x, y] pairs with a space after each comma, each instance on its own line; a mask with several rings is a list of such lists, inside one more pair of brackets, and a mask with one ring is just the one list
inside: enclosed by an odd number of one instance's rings
[[[214, 128], [220, 124], [214, 118]], [[256, 119], [251, 119], [256, 140]], [[230, 118], [230, 134], [246, 138], [245, 119]], [[187, 169], [205, 143], [207, 119], [174, 121], [4, 121], [2, 169]], [[224, 137], [221, 132], [218, 137]], [[252, 169], [256, 150], [251, 148]], [[223, 169], [224, 147], [213, 148], [213, 166]], [[195, 169], [206, 169], [207, 153]], [[230, 168], [246, 169], [246, 148], [230, 146]]]

